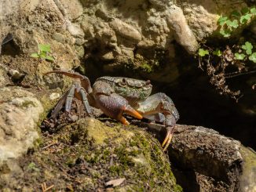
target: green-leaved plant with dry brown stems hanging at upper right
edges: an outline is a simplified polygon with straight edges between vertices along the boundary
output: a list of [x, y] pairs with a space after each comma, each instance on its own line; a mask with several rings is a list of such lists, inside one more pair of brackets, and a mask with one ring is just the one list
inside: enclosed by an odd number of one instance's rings
[[[256, 8], [243, 8], [234, 10], [229, 16], [221, 16], [218, 19], [219, 34], [224, 38], [231, 38], [238, 29], [246, 27], [256, 18]], [[250, 39], [250, 38], [249, 38]], [[251, 42], [250, 42], [251, 41]], [[240, 90], [229, 89], [226, 78], [233, 78], [242, 74], [251, 74], [256, 63], [256, 45], [254, 40], [240, 38], [238, 41], [232, 39], [232, 44], [215, 46], [203, 45], [198, 50], [199, 67], [207, 69], [210, 83], [218, 89], [221, 94], [229, 95], [238, 100], [242, 96]], [[229, 45], [228, 45], [229, 44]], [[227, 72], [229, 71], [229, 72]], [[252, 82], [252, 88], [256, 82]]]

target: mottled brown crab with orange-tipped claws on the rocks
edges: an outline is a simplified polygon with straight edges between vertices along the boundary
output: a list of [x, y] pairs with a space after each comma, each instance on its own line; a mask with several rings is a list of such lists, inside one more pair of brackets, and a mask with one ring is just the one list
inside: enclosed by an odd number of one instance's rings
[[[64, 93], [57, 106], [54, 108], [51, 118], [56, 118], [62, 106], [65, 111], [71, 111], [71, 103], [74, 96], [81, 100], [90, 116], [90, 107], [101, 109], [110, 118], [121, 121], [123, 125], [129, 125], [123, 113], [130, 114], [134, 118], [147, 118], [163, 123], [166, 128], [166, 137], [162, 147], [166, 150], [173, 136], [174, 126], [179, 118], [174, 102], [163, 92], [152, 92], [150, 81], [142, 81], [133, 78], [101, 77], [97, 78], [93, 87], [86, 76], [67, 71], [49, 71], [46, 74], [64, 74], [71, 78], [79, 79]], [[45, 75], [46, 75], [45, 74]]]

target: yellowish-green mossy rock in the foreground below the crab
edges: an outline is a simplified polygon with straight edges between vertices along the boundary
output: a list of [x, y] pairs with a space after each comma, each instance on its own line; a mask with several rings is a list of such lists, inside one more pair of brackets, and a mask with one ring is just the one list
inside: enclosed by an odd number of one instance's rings
[[136, 126], [85, 118], [43, 135], [43, 146], [20, 159], [24, 173], [0, 181], [0, 189], [41, 190], [45, 182], [53, 190], [96, 191], [125, 178], [115, 191], [182, 190], [159, 142]]

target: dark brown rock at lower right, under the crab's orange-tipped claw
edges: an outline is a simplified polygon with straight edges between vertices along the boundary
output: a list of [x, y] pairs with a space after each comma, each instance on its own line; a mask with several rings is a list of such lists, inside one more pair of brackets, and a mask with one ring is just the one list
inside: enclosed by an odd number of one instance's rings
[[254, 191], [255, 152], [213, 129], [177, 125], [169, 153], [184, 190]]

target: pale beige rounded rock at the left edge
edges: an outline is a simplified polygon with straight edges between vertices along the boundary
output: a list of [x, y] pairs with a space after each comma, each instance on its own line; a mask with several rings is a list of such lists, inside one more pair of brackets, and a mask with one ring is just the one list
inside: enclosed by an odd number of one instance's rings
[[0, 165], [34, 147], [43, 113], [34, 94], [19, 87], [0, 89]]

